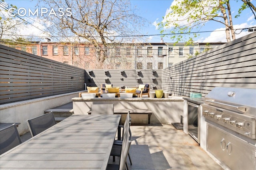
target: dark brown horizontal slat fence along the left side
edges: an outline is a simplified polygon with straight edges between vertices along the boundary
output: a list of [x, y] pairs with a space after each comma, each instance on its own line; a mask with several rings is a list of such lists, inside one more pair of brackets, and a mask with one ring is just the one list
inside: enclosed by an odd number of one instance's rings
[[85, 70], [0, 45], [0, 104], [84, 90]]

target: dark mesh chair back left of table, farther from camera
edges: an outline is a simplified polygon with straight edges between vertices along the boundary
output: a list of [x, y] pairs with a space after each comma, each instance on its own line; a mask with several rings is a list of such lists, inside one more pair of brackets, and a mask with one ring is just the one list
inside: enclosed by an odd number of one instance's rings
[[56, 124], [52, 111], [27, 121], [32, 137]]

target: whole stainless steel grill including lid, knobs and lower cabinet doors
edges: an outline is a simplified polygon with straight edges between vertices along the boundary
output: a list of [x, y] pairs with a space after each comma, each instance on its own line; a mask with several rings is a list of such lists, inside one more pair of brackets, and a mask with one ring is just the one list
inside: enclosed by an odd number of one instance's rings
[[207, 150], [231, 169], [256, 170], [256, 89], [216, 87], [202, 113]]

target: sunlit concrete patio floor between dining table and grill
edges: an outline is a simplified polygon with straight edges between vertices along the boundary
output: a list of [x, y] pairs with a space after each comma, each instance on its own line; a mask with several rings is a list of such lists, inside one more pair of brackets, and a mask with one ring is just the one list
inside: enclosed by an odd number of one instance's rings
[[[172, 125], [132, 125], [130, 170], [222, 170], [198, 143]], [[22, 141], [31, 137], [22, 135]], [[110, 164], [112, 156], [109, 159]]]

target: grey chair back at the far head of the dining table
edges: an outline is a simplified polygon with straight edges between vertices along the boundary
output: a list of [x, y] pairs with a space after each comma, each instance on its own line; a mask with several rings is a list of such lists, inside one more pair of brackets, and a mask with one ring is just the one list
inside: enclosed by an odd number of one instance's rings
[[94, 115], [113, 115], [114, 104], [92, 104], [91, 110]]

